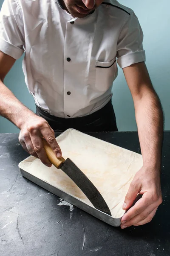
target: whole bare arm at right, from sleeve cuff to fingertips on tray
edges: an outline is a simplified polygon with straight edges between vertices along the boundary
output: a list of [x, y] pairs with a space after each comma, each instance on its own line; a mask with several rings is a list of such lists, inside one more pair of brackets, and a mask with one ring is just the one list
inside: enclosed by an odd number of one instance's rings
[[163, 113], [144, 62], [124, 69], [135, 105], [143, 166], [136, 172], [125, 196], [123, 209], [129, 209], [136, 196], [142, 198], [122, 217], [121, 227], [139, 226], [151, 221], [162, 202], [160, 170]]

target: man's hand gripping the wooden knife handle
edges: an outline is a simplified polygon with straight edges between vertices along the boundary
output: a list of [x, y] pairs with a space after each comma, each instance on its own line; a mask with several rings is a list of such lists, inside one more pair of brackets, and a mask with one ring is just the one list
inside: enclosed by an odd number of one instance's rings
[[42, 144], [44, 138], [53, 149], [56, 157], [61, 157], [62, 152], [57, 144], [54, 131], [48, 125], [48, 122], [34, 113], [27, 117], [26, 121], [20, 127], [19, 141], [23, 148], [34, 157], [40, 158], [41, 162], [48, 167], [51, 163], [45, 153]]

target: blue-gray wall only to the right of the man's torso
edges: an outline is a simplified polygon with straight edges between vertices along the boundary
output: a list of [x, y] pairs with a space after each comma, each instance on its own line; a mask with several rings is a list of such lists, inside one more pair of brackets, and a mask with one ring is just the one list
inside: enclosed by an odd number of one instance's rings
[[[144, 32], [146, 65], [170, 130], [170, 0], [119, 0], [139, 18]], [[136, 131], [133, 101], [122, 70], [113, 87], [113, 105], [120, 131]]]

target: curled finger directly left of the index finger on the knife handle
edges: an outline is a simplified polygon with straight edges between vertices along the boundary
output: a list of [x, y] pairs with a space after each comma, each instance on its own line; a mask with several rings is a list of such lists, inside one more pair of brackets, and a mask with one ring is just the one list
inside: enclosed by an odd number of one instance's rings
[[34, 151], [37, 154], [37, 156], [40, 158], [41, 162], [45, 164], [48, 167], [51, 167], [51, 163], [48, 160], [48, 157], [45, 153], [45, 149], [42, 144], [42, 138], [38, 131], [33, 131], [30, 133], [31, 142], [34, 147]]

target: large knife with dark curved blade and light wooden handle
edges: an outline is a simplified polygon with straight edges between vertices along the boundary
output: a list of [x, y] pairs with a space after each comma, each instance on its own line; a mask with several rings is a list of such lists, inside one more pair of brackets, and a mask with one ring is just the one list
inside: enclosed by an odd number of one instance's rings
[[106, 204], [104, 198], [100, 194], [99, 190], [96, 189], [94, 184], [75, 165], [75, 163], [71, 161], [70, 158], [67, 158], [66, 160], [64, 159], [64, 157], [57, 158], [54, 154], [54, 151], [50, 147], [50, 145], [44, 139], [43, 139], [43, 146], [49, 161], [57, 169], [61, 169], [63, 172], [65, 172], [65, 174], [68, 175], [68, 177], [70, 177], [71, 180], [74, 181], [74, 183], [76, 183], [79, 189], [81, 189], [82, 192], [87, 196], [91, 204], [93, 204], [93, 206], [96, 209], [102, 212], [105, 212], [108, 215], [111, 215], [111, 211], [108, 205]]

